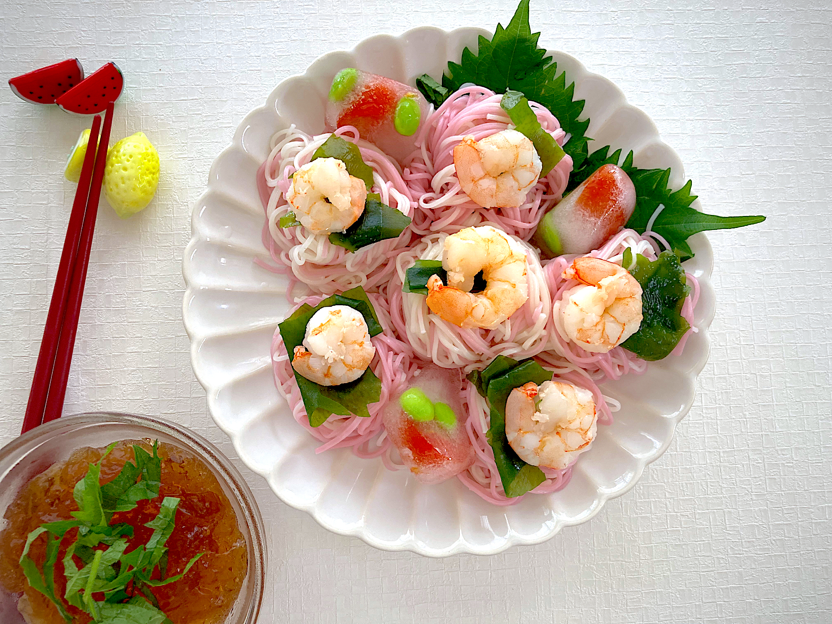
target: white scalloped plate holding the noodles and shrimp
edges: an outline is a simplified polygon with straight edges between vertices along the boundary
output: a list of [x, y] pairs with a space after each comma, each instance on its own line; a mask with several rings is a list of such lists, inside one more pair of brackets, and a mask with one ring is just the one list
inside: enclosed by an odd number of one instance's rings
[[[315, 455], [318, 442], [295, 423], [272, 379], [271, 338], [289, 305], [285, 278], [253, 262], [268, 258], [260, 239], [264, 215], [255, 172], [275, 131], [290, 123], [309, 132], [324, 130], [325, 97], [339, 69], [359, 67], [412, 84], [425, 72], [441, 75], [464, 47], [476, 49], [481, 34], [490, 37], [475, 28], [416, 28], [401, 37], [370, 37], [353, 52], [325, 54], [305, 75], [281, 82], [265, 106], [245, 116], [231, 145], [211, 166], [182, 261], [187, 285], [183, 317], [194, 371], [208, 394], [211, 416], [245, 464], [285, 503], [309, 512], [330, 531], [385, 550], [431, 557], [492, 554], [513, 544], [542, 542], [561, 527], [586, 522], [607, 499], [630, 489], [646, 464], [665, 452], [676, 423], [691, 409], [714, 313], [711, 246], [704, 235], [696, 235], [690, 240], [696, 258], [686, 263], [686, 270], [701, 284], [699, 333], [680, 357], [650, 364], [641, 377], [604, 385], [622, 410], [614, 424], [598, 428], [592, 450], [582, 454], [560, 492], [527, 496], [501, 508], [456, 479], [426, 486], [408, 471], [390, 472], [379, 459], [359, 459], [346, 449]], [[632, 149], [637, 166], [671, 167], [671, 185], [681, 186], [681, 161], [661, 142], [653, 122], [629, 106], [606, 78], [587, 72], [567, 54], [549, 54], [558, 71], [565, 70], [567, 80], [575, 82], [575, 97], [587, 101], [585, 115], [592, 120], [587, 135], [596, 139], [594, 145]]]

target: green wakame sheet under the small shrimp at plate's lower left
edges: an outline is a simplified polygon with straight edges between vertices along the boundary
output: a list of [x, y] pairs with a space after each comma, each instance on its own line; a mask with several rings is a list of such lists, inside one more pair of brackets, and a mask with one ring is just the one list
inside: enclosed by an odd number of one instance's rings
[[[364, 316], [370, 336], [381, 334], [384, 328], [379, 324], [372, 304], [367, 294], [360, 286], [344, 292], [343, 295], [331, 295], [321, 301], [314, 308], [311, 305], [301, 305], [288, 319], [278, 325], [280, 337], [286, 346], [286, 353], [290, 361], [295, 359], [295, 347], [303, 344], [306, 335], [306, 325], [315, 312], [330, 305], [348, 305], [358, 310]], [[364, 374], [349, 384], [338, 386], [322, 386], [306, 379], [295, 369], [295, 381], [300, 389], [306, 415], [312, 427], [319, 427], [331, 414], [339, 416], [369, 417], [367, 405], [378, 403], [381, 398], [381, 381], [368, 367]]]

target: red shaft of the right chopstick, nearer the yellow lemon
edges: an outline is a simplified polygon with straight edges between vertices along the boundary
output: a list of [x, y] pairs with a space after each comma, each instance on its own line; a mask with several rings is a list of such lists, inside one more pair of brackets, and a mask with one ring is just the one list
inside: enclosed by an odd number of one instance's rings
[[75, 334], [78, 329], [78, 317], [81, 315], [81, 304], [84, 298], [84, 284], [87, 281], [87, 267], [90, 264], [90, 250], [92, 250], [92, 233], [96, 227], [98, 215], [98, 200], [102, 194], [104, 181], [104, 167], [106, 166], [106, 151], [110, 145], [110, 129], [112, 126], [113, 105], [106, 107], [102, 138], [96, 154], [96, 167], [92, 173], [92, 186], [87, 200], [87, 212], [84, 215], [84, 225], [81, 230], [81, 240], [78, 243], [78, 255], [72, 270], [67, 311], [63, 317], [61, 339], [58, 342], [55, 368], [52, 370], [52, 380], [49, 382], [46, 409], [43, 412], [43, 422], [61, 417], [63, 398], [67, 394], [67, 379], [72, 364], [72, 351], [75, 348]]

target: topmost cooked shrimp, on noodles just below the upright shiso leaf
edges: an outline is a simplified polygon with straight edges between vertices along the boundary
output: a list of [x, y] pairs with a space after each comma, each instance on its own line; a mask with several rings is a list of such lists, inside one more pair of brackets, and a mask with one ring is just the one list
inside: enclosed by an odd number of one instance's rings
[[516, 130], [503, 130], [453, 148], [459, 186], [483, 208], [521, 206], [537, 182], [542, 165], [532, 141]]

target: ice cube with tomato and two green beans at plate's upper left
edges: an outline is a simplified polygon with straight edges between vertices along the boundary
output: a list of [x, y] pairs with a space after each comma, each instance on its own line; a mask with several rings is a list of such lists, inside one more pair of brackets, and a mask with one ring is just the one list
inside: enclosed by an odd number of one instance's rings
[[362, 139], [403, 164], [416, 151], [414, 142], [428, 110], [418, 89], [346, 67], [329, 87], [326, 129], [354, 126]]

